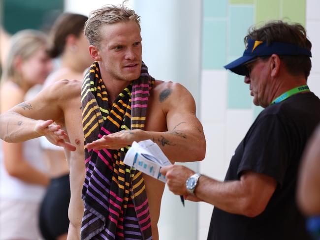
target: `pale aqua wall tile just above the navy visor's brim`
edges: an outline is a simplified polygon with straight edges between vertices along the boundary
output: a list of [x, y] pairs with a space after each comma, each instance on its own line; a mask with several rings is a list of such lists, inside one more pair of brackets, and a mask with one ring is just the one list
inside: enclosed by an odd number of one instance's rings
[[245, 45], [243, 38], [254, 24], [253, 6], [230, 6], [229, 55], [242, 55]]

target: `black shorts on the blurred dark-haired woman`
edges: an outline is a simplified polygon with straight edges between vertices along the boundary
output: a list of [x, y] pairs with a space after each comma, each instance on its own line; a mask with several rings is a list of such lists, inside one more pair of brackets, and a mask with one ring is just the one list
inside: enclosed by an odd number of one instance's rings
[[69, 228], [69, 175], [51, 179], [40, 207], [39, 226], [45, 240], [56, 240]]

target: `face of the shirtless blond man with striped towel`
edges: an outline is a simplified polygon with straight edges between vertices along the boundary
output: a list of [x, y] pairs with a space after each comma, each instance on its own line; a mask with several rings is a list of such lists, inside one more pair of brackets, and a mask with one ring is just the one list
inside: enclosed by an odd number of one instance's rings
[[134, 21], [108, 24], [101, 28], [98, 50], [103, 80], [131, 81], [140, 76], [142, 62], [141, 35]]

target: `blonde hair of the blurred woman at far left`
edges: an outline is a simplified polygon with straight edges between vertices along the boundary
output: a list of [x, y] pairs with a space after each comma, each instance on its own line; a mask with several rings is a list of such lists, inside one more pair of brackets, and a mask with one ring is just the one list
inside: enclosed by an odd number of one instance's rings
[[22, 30], [14, 34], [10, 39], [9, 54], [3, 69], [2, 81], [9, 80], [20, 85], [22, 76], [15, 67], [16, 58], [28, 60], [47, 44], [47, 36], [38, 30]]

